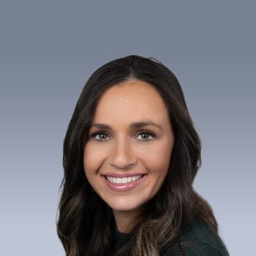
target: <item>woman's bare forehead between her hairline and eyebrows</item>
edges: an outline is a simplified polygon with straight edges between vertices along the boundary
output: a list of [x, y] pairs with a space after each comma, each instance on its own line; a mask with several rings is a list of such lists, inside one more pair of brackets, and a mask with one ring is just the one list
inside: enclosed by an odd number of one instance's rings
[[126, 121], [151, 119], [161, 122], [168, 116], [168, 110], [159, 92], [142, 81], [116, 84], [100, 97], [95, 110], [94, 121]]

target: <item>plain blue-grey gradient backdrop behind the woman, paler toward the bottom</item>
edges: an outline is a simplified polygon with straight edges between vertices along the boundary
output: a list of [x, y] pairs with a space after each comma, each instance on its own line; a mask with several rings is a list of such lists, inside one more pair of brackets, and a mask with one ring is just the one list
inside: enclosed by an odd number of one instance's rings
[[254, 1], [1, 1], [0, 254], [65, 255], [62, 143], [82, 87], [130, 54], [172, 70], [202, 139], [196, 190], [231, 255], [254, 254]]

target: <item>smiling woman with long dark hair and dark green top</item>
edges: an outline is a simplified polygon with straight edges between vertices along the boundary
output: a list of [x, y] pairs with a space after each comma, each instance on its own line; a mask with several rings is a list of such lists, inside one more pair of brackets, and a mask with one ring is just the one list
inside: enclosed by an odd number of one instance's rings
[[174, 74], [130, 55], [84, 86], [63, 143], [66, 255], [228, 255], [193, 190], [201, 142]]

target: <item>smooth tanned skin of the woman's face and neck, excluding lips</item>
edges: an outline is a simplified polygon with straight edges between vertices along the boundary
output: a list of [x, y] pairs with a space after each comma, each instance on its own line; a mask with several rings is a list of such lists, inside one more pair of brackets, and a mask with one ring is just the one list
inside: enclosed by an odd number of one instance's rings
[[[132, 122], [153, 121], [155, 126], [130, 128]], [[104, 123], [109, 129], [91, 127], [84, 148], [86, 177], [108, 206], [113, 209], [118, 230], [129, 233], [145, 202], [159, 191], [170, 164], [174, 133], [167, 107], [158, 91], [143, 81], [128, 81], [107, 89], [100, 98], [92, 123]], [[140, 131], [150, 134], [138, 134]], [[103, 132], [94, 135], [95, 132]], [[130, 191], [113, 191], [107, 185], [107, 172], [146, 175]]]

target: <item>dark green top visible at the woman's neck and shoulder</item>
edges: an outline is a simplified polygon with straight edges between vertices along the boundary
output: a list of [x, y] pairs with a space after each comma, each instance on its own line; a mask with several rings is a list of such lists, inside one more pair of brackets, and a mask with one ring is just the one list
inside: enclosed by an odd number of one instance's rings
[[[122, 242], [129, 239], [132, 234], [121, 233], [115, 229], [115, 249], [121, 246]], [[209, 226], [194, 218], [180, 237], [180, 245], [172, 252], [161, 253], [160, 256], [229, 256], [222, 239]]]

